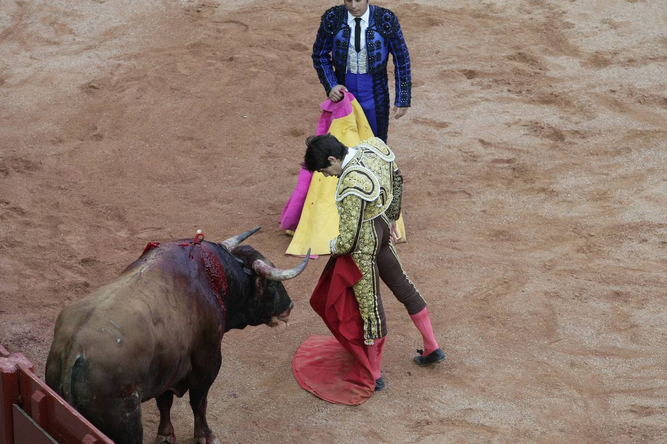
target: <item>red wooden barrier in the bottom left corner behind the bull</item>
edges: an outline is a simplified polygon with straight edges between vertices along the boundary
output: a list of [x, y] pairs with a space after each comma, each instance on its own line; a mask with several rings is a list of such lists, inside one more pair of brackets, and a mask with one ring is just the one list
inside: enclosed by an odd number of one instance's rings
[[0, 345], [0, 444], [113, 444], [33, 373], [21, 353]]

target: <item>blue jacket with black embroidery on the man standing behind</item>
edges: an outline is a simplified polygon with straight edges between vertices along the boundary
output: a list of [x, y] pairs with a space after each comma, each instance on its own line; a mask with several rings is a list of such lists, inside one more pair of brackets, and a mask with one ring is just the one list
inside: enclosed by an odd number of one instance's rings
[[[410, 75], [410, 55], [403, 39], [398, 17], [392, 11], [369, 5], [370, 16], [366, 29], [366, 50], [368, 52], [368, 73], [373, 77], [373, 95], [378, 118], [378, 134], [387, 140], [389, 128], [389, 87], [387, 64], [389, 54], [394, 60], [396, 75], [397, 107], [410, 107], [412, 81]], [[348, 66], [348, 46], [352, 28], [348, 25], [348, 10], [345, 5], [327, 9], [322, 15], [317, 39], [313, 45], [313, 65], [319, 81], [327, 95], [336, 85], [345, 85]]]

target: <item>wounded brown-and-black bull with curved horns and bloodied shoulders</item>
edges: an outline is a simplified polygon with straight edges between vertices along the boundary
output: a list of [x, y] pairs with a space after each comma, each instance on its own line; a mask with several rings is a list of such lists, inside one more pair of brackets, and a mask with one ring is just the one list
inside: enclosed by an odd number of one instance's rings
[[156, 443], [173, 443], [173, 395], [189, 390], [194, 435], [219, 443], [206, 422], [209, 387], [221, 364], [223, 334], [287, 322], [283, 280], [309, 255], [279, 270], [250, 246], [260, 227], [218, 244], [179, 240], [147, 246], [113, 282], [63, 308], [46, 382], [116, 443], [141, 443], [141, 403], [155, 398]]

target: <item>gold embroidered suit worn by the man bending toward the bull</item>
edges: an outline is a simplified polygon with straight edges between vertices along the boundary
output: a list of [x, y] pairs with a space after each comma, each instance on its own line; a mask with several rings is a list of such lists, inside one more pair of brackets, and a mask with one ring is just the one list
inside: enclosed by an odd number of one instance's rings
[[[387, 334], [378, 281], [386, 268], [401, 276], [403, 282], [398, 290], [400, 296], [409, 297], [402, 302], [414, 306], [410, 311], [420, 312], [426, 302], [408, 280], [392, 242], [386, 242], [388, 251], [380, 252], [385, 237], [382, 234], [390, 235], [392, 222], [398, 220], [401, 212], [403, 178], [394, 152], [374, 137], [350, 148], [347, 159], [336, 188], [340, 234], [331, 240], [329, 249], [333, 256], [352, 254], [364, 276], [354, 286], [354, 294], [364, 320], [366, 344], [372, 345], [374, 339]], [[382, 255], [380, 264], [378, 254]]]

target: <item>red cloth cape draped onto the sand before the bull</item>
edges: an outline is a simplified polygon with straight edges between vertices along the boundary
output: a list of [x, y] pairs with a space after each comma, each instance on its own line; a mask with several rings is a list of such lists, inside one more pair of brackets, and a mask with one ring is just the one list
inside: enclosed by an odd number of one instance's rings
[[351, 256], [330, 258], [310, 305], [333, 337], [311, 335], [292, 360], [299, 385], [325, 401], [359, 405], [375, 390], [364, 347], [364, 323], [352, 286], [362, 278]]

